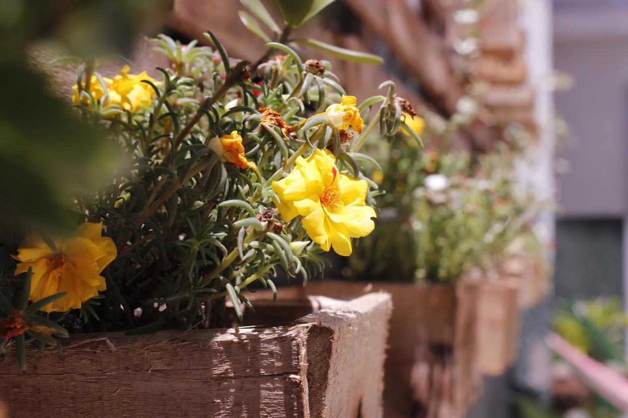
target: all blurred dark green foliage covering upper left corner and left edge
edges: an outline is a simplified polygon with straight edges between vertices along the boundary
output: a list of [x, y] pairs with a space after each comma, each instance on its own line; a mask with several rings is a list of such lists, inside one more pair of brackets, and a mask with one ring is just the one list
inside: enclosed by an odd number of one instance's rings
[[40, 230], [70, 227], [70, 196], [93, 189], [116, 164], [95, 126], [28, 63], [33, 46], [86, 57], [124, 53], [150, 32], [165, 1], [0, 2], [0, 244], [14, 220]]

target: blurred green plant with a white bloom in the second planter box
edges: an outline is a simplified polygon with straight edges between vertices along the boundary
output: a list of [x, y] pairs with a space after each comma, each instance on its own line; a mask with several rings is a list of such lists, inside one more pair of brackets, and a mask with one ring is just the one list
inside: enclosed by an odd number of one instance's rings
[[507, 147], [473, 155], [444, 151], [443, 143], [420, 152], [413, 144], [402, 132], [387, 146], [379, 185], [387, 193], [376, 232], [350, 257], [354, 277], [453, 282], [470, 269], [494, 269], [513, 242], [533, 235], [539, 205], [517, 184]]

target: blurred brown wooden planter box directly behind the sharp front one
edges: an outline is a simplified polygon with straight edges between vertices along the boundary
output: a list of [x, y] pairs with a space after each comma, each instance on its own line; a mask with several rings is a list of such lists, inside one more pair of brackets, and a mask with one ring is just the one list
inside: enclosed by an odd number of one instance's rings
[[[476, 358], [478, 286], [460, 282], [310, 281], [279, 297], [351, 297], [384, 291], [393, 297], [384, 376], [384, 416], [462, 417], [480, 390]], [[269, 297], [259, 292], [256, 297]]]

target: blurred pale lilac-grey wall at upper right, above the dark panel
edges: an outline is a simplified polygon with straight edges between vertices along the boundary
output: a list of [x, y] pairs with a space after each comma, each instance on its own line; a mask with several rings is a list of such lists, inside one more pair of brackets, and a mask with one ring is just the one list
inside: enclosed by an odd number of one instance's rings
[[558, 176], [565, 217], [624, 217], [628, 170], [628, 12], [590, 9], [555, 13], [555, 68], [575, 76], [556, 94], [575, 146]]

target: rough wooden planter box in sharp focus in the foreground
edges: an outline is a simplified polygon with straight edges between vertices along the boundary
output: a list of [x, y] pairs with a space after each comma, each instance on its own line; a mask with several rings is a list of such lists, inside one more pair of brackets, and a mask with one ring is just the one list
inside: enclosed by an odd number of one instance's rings
[[282, 300], [254, 317], [290, 325], [73, 336], [24, 374], [12, 351], [0, 399], [11, 417], [381, 417], [391, 297]]

